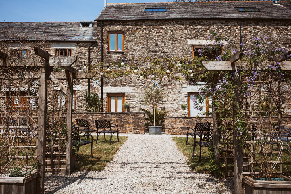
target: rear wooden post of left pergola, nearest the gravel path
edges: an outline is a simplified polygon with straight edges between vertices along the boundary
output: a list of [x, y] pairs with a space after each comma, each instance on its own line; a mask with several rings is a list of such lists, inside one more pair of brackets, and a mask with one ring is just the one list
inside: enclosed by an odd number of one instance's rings
[[73, 106], [73, 76], [68, 70], [65, 70], [67, 86], [67, 137], [66, 137], [66, 175], [71, 175], [72, 160], [72, 106]]

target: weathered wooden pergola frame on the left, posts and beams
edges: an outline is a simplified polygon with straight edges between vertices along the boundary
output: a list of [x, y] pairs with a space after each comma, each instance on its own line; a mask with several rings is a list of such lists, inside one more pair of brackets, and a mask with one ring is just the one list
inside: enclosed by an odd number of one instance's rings
[[[46, 144], [46, 126], [47, 126], [47, 81], [50, 78], [55, 83], [58, 81], [58, 77], [65, 77], [68, 84], [67, 86], [60, 84], [60, 89], [67, 95], [67, 121], [66, 121], [66, 169], [65, 173], [70, 175], [72, 173], [71, 163], [72, 163], [72, 100], [73, 100], [73, 79], [90, 79], [94, 76], [94, 73], [87, 72], [78, 72], [74, 70], [71, 65], [77, 61], [76, 56], [52, 56], [47, 51], [44, 51], [38, 47], [34, 47], [34, 52], [36, 55], [41, 58], [36, 58], [36, 63], [31, 64], [22, 64], [17, 63], [13, 64], [10, 61], [15, 60], [16, 58], [11, 59], [8, 55], [0, 51], [0, 58], [3, 60], [2, 65], [5, 67], [39, 67], [38, 70], [38, 129], [37, 129], [37, 149], [36, 157], [38, 162], [41, 164], [37, 168], [39, 177], [37, 179], [37, 193], [44, 193], [45, 186], [45, 144]], [[16, 59], [17, 60], [17, 59]], [[59, 73], [58, 76], [51, 75], [54, 67], [62, 67], [65, 69], [65, 72]]]

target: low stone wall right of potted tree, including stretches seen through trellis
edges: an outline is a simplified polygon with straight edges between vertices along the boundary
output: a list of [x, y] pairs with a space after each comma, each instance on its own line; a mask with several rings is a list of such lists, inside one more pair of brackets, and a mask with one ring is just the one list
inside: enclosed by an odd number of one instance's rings
[[[276, 125], [278, 118], [272, 117], [272, 122], [274, 126]], [[211, 117], [166, 117], [165, 118], [165, 134], [171, 135], [186, 135], [187, 127], [194, 128], [196, 122], [211, 122]], [[281, 119], [281, 124], [285, 127], [291, 127], [291, 116], [284, 116]], [[258, 123], [259, 129], [268, 129], [269, 128], [269, 118], [265, 118], [262, 123]]]

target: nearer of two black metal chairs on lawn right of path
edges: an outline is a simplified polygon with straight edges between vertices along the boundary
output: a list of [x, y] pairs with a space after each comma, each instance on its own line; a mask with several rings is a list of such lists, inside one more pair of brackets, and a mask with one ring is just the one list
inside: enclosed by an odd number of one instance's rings
[[200, 146], [200, 153], [199, 153], [199, 162], [200, 162], [201, 161], [201, 147], [209, 147], [209, 145], [212, 143], [212, 140], [213, 140], [213, 133], [212, 133], [212, 130], [210, 129], [210, 126], [203, 127], [203, 130], [199, 137], [200, 137], [199, 141], [194, 141], [192, 157], [194, 157], [195, 146], [196, 146], [195, 144], [197, 143]]

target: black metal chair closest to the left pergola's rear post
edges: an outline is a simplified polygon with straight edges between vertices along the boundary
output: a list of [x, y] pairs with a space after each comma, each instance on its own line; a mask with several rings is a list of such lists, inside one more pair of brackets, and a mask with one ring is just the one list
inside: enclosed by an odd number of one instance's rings
[[[72, 129], [72, 145], [76, 147], [77, 155], [79, 153], [80, 146], [91, 143], [91, 158], [93, 158], [93, 136], [91, 134], [80, 136], [79, 127], [72, 127]], [[86, 137], [86, 139], [82, 140], [82, 137]], [[91, 141], [89, 141], [89, 137], [91, 137]]]

